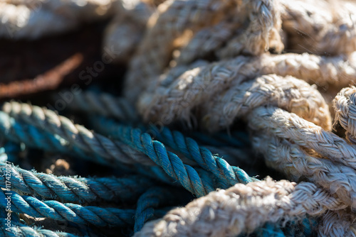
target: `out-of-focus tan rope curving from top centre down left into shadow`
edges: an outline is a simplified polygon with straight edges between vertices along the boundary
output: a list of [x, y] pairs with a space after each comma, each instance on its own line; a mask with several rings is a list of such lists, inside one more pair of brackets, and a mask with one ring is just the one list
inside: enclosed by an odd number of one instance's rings
[[204, 26], [214, 25], [224, 18], [224, 13], [229, 9], [236, 9], [235, 1], [189, 0], [160, 4], [150, 18], [147, 32], [130, 62], [125, 80], [125, 97], [130, 101], [135, 99], [151, 83], [147, 79], [162, 72], [168, 64], [174, 39], [182, 37], [188, 29], [194, 33]]

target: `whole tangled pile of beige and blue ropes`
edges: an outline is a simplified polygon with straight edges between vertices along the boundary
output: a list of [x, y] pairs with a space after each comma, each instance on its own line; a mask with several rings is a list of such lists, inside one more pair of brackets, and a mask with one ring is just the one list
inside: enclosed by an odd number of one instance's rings
[[[0, 3], [2, 38], [110, 19], [103, 52], [127, 69], [120, 96], [91, 85], [51, 93], [70, 94], [59, 111], [1, 104], [0, 235], [356, 236], [355, 12], [326, 0]], [[31, 170], [55, 154], [70, 165]]]

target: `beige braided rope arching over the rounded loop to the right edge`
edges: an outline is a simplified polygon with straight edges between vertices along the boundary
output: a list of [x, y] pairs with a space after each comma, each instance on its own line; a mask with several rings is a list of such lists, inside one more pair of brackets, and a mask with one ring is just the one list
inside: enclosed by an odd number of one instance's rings
[[[213, 99], [212, 95], [224, 92], [232, 82], [240, 84], [261, 74], [292, 75], [308, 82], [337, 82], [342, 86], [356, 81], [356, 64], [353, 65], [352, 56], [347, 57], [349, 60], [341, 56], [327, 58], [308, 54], [239, 56], [234, 60], [197, 67], [184, 72], [168, 87], [161, 86], [154, 92], [145, 92], [138, 101], [137, 109], [150, 121], [168, 124], [177, 118], [187, 120], [192, 108]], [[316, 89], [314, 91], [316, 93]]]

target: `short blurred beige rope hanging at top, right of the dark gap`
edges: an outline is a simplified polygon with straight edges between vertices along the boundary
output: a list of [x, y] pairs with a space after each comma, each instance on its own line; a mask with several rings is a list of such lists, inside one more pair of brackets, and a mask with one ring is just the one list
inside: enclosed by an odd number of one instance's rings
[[[114, 62], [130, 61], [136, 46], [142, 40], [148, 19], [155, 6], [146, 1], [122, 1], [117, 4], [115, 18], [105, 28], [103, 48], [114, 48]], [[119, 39], [120, 40], [117, 40]]]

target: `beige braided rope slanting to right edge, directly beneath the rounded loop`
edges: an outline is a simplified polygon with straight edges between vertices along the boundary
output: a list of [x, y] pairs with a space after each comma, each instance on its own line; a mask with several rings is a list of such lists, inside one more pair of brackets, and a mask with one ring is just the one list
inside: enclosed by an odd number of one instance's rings
[[268, 129], [280, 138], [311, 148], [334, 162], [356, 169], [356, 149], [334, 133], [276, 107], [259, 107], [248, 115], [251, 129]]

